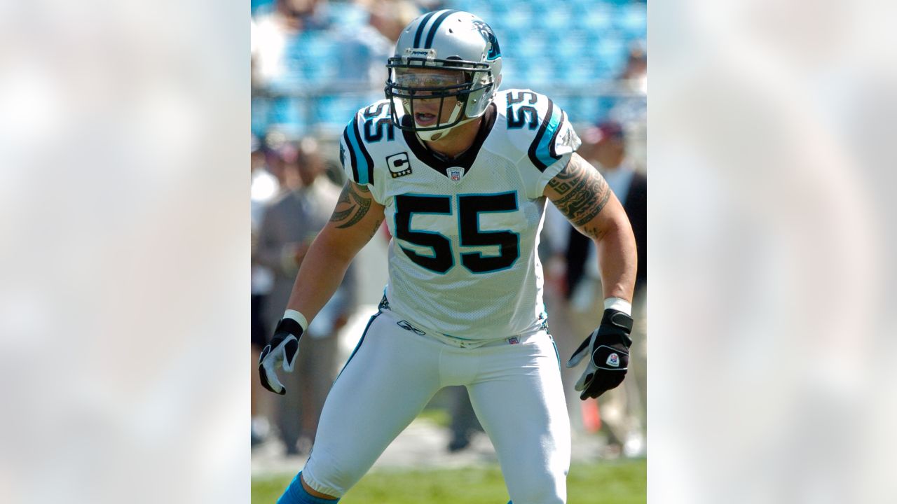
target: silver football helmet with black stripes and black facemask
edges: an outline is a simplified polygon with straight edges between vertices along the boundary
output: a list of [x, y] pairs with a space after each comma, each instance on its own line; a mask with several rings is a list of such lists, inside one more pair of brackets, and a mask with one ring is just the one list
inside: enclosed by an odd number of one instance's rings
[[[501, 84], [501, 48], [492, 28], [474, 14], [435, 11], [402, 30], [387, 68], [385, 91], [393, 123], [422, 140], [439, 140], [453, 127], [482, 116], [492, 103]], [[446, 99], [457, 101], [449, 105], [448, 120], [441, 121]]]

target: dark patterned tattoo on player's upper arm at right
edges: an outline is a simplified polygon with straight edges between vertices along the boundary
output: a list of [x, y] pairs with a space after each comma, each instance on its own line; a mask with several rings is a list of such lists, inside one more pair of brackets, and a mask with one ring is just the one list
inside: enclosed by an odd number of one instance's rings
[[552, 200], [554, 206], [578, 228], [601, 213], [611, 197], [605, 178], [577, 156], [570, 158], [567, 166], [548, 182], [548, 186], [560, 196]]

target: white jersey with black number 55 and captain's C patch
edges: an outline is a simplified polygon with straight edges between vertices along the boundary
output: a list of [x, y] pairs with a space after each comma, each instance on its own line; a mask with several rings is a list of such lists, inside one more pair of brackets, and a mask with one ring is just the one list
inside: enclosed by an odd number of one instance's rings
[[454, 160], [393, 126], [388, 100], [359, 110], [340, 158], [386, 207], [389, 308], [463, 339], [537, 331], [543, 191], [579, 143], [567, 114], [528, 90], [498, 92], [474, 145]]

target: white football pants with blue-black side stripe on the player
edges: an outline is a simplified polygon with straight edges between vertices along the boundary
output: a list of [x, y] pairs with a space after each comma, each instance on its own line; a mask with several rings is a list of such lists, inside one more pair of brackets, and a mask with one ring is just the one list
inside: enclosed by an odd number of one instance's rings
[[514, 504], [563, 504], [570, 420], [552, 337], [471, 348], [431, 333], [388, 309], [371, 317], [327, 396], [305, 482], [342, 497], [440, 388], [464, 385]]

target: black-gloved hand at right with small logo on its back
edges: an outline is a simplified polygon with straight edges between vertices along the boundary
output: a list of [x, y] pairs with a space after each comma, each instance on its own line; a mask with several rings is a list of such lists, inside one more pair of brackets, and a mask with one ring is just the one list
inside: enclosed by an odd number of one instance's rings
[[582, 392], [580, 399], [597, 397], [623, 383], [629, 367], [631, 331], [632, 317], [622, 311], [605, 309], [601, 325], [588, 335], [567, 361], [567, 367], [572, 368], [589, 356], [588, 366], [574, 387]]

